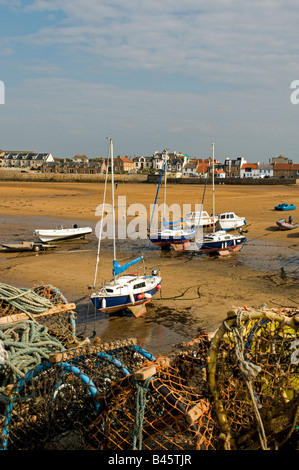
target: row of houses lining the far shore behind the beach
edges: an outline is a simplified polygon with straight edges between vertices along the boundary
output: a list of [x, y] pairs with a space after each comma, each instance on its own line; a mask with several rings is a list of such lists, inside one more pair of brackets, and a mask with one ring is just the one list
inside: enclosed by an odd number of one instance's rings
[[[118, 173], [159, 173], [166, 164], [172, 177], [208, 178], [212, 173], [212, 159], [190, 158], [189, 155], [167, 150], [154, 152], [150, 157], [135, 155], [133, 159], [117, 156], [114, 167]], [[0, 167], [37, 170], [42, 173], [104, 174], [111, 168], [106, 158], [75, 155], [72, 159], [54, 158], [50, 153], [0, 151]], [[216, 178], [299, 178], [299, 164], [279, 155], [268, 163], [248, 163], [243, 157], [224, 163], [214, 160]]]

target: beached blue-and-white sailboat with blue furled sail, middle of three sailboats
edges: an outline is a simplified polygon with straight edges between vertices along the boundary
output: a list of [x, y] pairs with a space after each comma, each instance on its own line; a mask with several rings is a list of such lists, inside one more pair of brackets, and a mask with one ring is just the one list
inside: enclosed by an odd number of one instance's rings
[[168, 222], [163, 216], [162, 226], [158, 230], [152, 230], [152, 222], [154, 217], [154, 212], [157, 204], [157, 198], [159, 194], [159, 189], [161, 185], [162, 174], [164, 172], [165, 182], [164, 182], [164, 208], [166, 207], [166, 181], [167, 181], [167, 152], [165, 152], [165, 161], [163, 162], [162, 169], [160, 172], [160, 178], [158, 183], [158, 188], [155, 197], [154, 209], [151, 216], [148, 237], [149, 240], [156, 246], [159, 246], [163, 249], [169, 249], [173, 247], [174, 249], [183, 249], [186, 243], [189, 243], [190, 240], [194, 239], [195, 228], [193, 227], [184, 227], [183, 219]]

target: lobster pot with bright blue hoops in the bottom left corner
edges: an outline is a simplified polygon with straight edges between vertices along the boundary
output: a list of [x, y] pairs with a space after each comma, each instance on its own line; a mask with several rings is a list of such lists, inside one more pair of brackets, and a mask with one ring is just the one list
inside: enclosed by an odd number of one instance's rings
[[100, 397], [148, 357], [134, 339], [53, 353], [0, 396], [2, 449], [89, 449]]

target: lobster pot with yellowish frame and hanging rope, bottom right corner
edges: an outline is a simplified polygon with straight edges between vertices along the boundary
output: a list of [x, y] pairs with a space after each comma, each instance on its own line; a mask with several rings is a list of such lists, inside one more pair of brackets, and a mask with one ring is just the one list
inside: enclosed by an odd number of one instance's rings
[[298, 313], [239, 309], [213, 338], [209, 382], [225, 448], [279, 448], [298, 425]]

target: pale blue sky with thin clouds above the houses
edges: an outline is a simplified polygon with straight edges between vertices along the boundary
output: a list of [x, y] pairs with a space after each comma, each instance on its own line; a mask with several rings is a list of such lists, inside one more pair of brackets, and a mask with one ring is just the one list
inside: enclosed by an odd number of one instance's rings
[[297, 0], [0, 0], [0, 24], [2, 150], [299, 163]]

